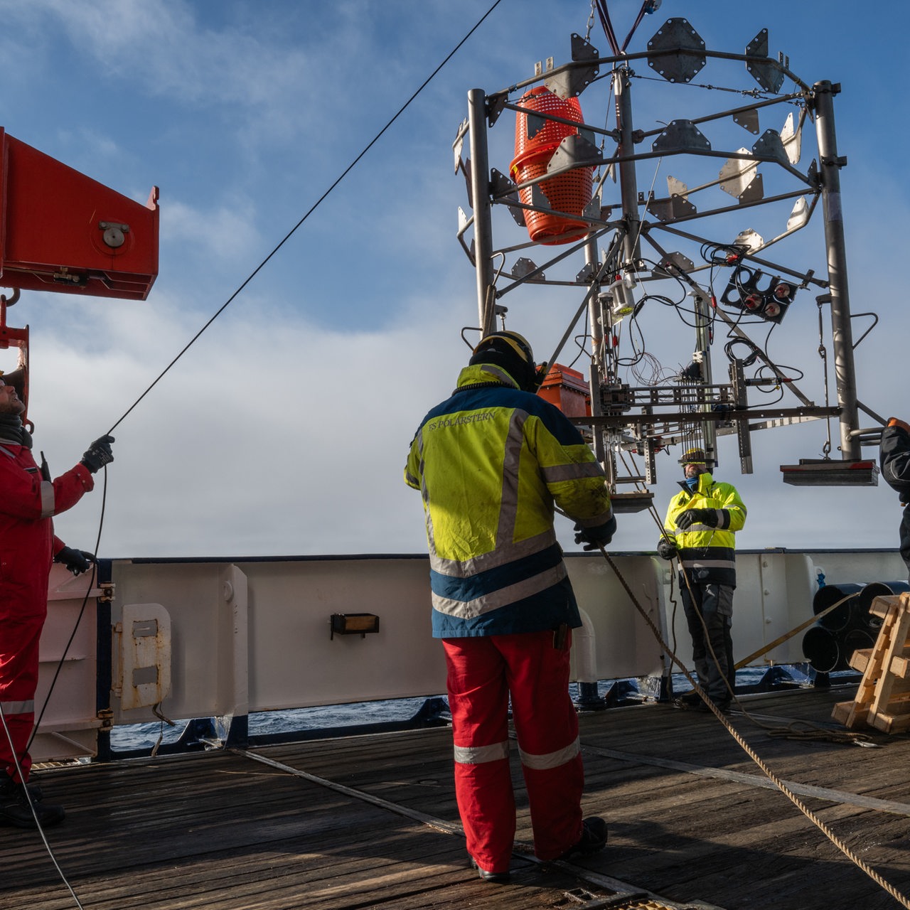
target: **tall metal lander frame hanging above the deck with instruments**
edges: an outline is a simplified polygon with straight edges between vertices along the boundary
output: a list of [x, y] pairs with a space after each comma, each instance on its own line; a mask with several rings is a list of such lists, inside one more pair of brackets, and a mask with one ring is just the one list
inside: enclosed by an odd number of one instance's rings
[[[742, 106], [699, 112], [690, 118], [675, 116], [651, 130], [634, 127], [632, 95], [637, 74], [632, 67], [635, 64], [650, 67], [652, 72], [643, 70], [649, 76], [647, 87], [652, 88], [651, 83], [663, 80], [664, 90], [667, 83], [696, 85], [692, 80], [709, 59], [713, 66], [717, 66], [716, 61], [742, 61], [746, 73], [759, 87], [749, 84], [748, 88], [723, 89], [739, 92], [745, 99]], [[503, 120], [511, 119], [502, 116], [505, 111], [523, 117], [521, 122], [526, 123], [529, 135], [541, 129], [548, 119], [564, 124], [571, 122], [528, 107], [529, 96], [525, 93], [531, 86], [545, 86], [555, 96], [578, 97], [581, 101], [585, 91], [602, 86], [601, 80], [607, 77], [612, 103], [608, 99], [609, 116], [604, 127], [591, 126], [589, 122], [577, 125], [573, 135], [561, 140], [540, 177], [516, 183], [500, 170], [490, 169], [490, 131]], [[784, 79], [793, 81], [792, 91], [781, 93]], [[496, 319], [504, 319], [507, 309], [500, 301], [517, 288], [560, 285], [577, 288], [581, 293], [580, 307], [549, 364], [556, 362], [573, 327], [587, 314], [585, 347], [590, 342], [590, 352], [585, 352], [591, 358], [591, 414], [572, 420], [590, 433], [610, 481], [617, 511], [639, 511], [650, 505], [652, 493], [642, 490], [641, 485], [655, 482], [655, 454], [660, 450], [674, 444], [703, 447], [716, 463], [717, 437], [734, 433], [741, 470], [751, 473], [751, 432], [804, 420], [838, 420], [841, 458], [830, 456], [829, 429], [824, 458], [783, 465], [784, 482], [802, 486], [876, 484], [875, 460], [864, 460], [861, 446], [877, 443], [881, 430], [863, 430], [858, 413], [863, 410], [878, 423], [885, 421], [856, 397], [853, 317], [840, 202], [840, 169], [846, 159], [838, 155], [834, 130], [834, 97], [839, 91], [839, 85], [826, 81], [810, 86], [791, 72], [789, 58], [768, 56], [767, 29], [755, 35], [743, 54], [730, 54], [706, 49], [693, 25], [683, 18], [669, 19], [641, 53], [601, 57], [586, 38], [571, 35], [571, 63], [553, 66], [550, 58], [545, 65], [537, 64], [533, 77], [509, 88], [490, 95], [479, 88], [470, 90], [468, 117], [460, 125], [453, 150], [455, 170], [465, 177], [469, 206], [473, 210], [469, 217], [459, 209], [458, 238], [476, 270], [479, 328], [483, 334], [496, 329]], [[760, 115], [781, 105], [792, 108], [784, 128], [780, 131], [767, 128], [759, 133]], [[673, 109], [683, 108], [676, 105]], [[795, 124], [794, 112], [798, 114]], [[804, 126], [813, 121], [817, 155], [808, 167], [800, 169], [797, 165]], [[713, 147], [706, 133], [721, 124], [727, 130], [733, 128], [731, 124], [737, 125], [757, 138], [751, 148], [719, 150]], [[805, 132], [811, 135], [811, 130]], [[674, 166], [677, 161], [700, 161], [703, 167], [710, 163], [706, 160], [710, 158], [723, 159], [723, 167], [716, 179], [708, 179], [698, 187], [690, 189], [677, 178], [668, 177], [667, 197], [656, 197], [652, 189], [647, 192], [640, 189], [646, 185], [640, 180], [642, 174], [647, 174], [647, 181], [654, 185], [655, 159], [669, 159]], [[571, 213], [573, 221], [583, 222], [581, 232], [576, 230], [574, 237], [569, 235], [555, 243], [528, 241], [525, 234], [523, 242], [501, 247], [494, 244], [494, 212], [497, 217], [507, 212], [515, 224], [523, 226], [526, 213], [551, 210], [547, 195], [541, 191], [546, 190], [547, 181], [579, 168], [591, 168], [593, 173], [590, 202], [583, 211]], [[775, 187], [771, 195], [766, 195], [764, 177], [769, 175], [775, 185], [781, 186], [779, 191]], [[613, 187], [609, 187], [611, 179]], [[704, 210], [696, 207], [693, 200], [701, 204], [701, 199], [711, 191], [720, 196], [716, 193], [718, 189], [733, 196], [733, 204], [709, 203]], [[523, 196], [521, 190], [525, 190]], [[767, 248], [790, 238], [810, 223], [820, 201], [826, 276], [767, 258]], [[752, 229], [741, 230], [732, 242], [718, 241], [699, 232], [708, 218], [723, 226], [732, 217], [742, 219], [744, 212], [757, 207], [779, 207], [781, 203], [791, 202], [794, 204], [786, 227], [768, 241]], [[511, 226], [513, 233], [515, 229]], [[726, 237], [733, 234], [730, 230]], [[555, 244], [561, 248], [551, 255]], [[703, 261], [696, 264], [699, 255], [687, 256], [674, 248], [676, 244], [699, 248]], [[535, 256], [549, 258], [538, 265], [526, 255], [529, 250]], [[555, 269], [566, 268], [570, 257], [583, 258], [581, 270], [574, 277], [553, 277]], [[718, 293], [720, 288], [715, 289], [713, 281], [721, 277], [723, 290]], [[619, 342], [622, 321], [625, 319], [626, 325], [632, 326], [642, 303], [652, 296], [649, 288], [668, 284], [684, 291], [694, 333], [693, 362], [669, 382], [633, 385], [623, 381]], [[836, 404], [827, 400], [828, 363], [821, 338], [824, 404], [804, 394], [794, 378], [787, 375], [787, 370], [774, 363], [747, 334], [746, 329], [755, 325], [769, 329], [770, 334], [770, 329], [784, 319], [797, 292], [803, 297], [814, 292], [820, 336], [824, 308], [829, 310]], [[666, 299], [662, 297], [664, 302]], [[681, 304], [682, 301], [677, 301], [674, 306]], [[877, 321], [874, 314], [858, 315], [873, 316]], [[725, 349], [729, 365], [728, 376], [723, 381], [718, 381], [714, 373], [719, 370], [712, 367], [715, 327], [725, 329], [731, 339]], [[631, 338], [631, 329], [629, 335]], [[744, 356], [738, 356], [741, 354]], [[755, 364], [758, 364], [757, 373], [750, 378], [746, 371]], [[784, 394], [791, 398], [773, 406], [750, 402], [751, 389], [759, 391], [764, 387], [767, 391], [769, 386], [780, 389], [782, 398]], [[643, 472], [635, 469], [629, 476], [622, 476], [625, 453], [631, 452], [643, 457]], [[617, 485], [622, 483], [635, 483], [639, 489], [618, 493]]]

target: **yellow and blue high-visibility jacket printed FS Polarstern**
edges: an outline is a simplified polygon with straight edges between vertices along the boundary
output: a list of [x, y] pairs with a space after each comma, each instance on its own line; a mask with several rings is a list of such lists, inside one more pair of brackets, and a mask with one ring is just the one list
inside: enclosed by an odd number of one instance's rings
[[603, 470], [560, 410], [498, 367], [466, 367], [421, 421], [404, 479], [423, 496], [435, 637], [581, 625], [553, 504], [585, 528], [615, 521]]

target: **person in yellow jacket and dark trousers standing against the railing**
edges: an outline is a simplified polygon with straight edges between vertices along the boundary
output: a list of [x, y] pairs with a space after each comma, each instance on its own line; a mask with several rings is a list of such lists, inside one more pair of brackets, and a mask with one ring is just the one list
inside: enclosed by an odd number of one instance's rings
[[[725, 711], [735, 682], [730, 632], [736, 587], [734, 535], [745, 524], [746, 508], [733, 484], [713, 479], [703, 450], [686, 451], [680, 463], [682, 490], [667, 508], [657, 551], [666, 560], [679, 557], [680, 595], [698, 683]], [[694, 692], [681, 701], [710, 710]]]

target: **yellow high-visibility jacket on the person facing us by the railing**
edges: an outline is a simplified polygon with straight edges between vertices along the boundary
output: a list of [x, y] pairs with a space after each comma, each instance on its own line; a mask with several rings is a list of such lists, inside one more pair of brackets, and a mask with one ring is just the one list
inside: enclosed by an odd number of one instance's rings
[[[736, 542], [734, 534], [745, 524], [746, 508], [731, 483], [718, 483], [711, 474], [700, 474], [698, 486], [689, 490], [680, 481], [667, 508], [663, 530], [676, 544], [682, 568], [690, 581], [736, 586]], [[683, 531], [676, 519], [687, 509], [711, 509], [717, 513], [717, 527], [691, 524]]]

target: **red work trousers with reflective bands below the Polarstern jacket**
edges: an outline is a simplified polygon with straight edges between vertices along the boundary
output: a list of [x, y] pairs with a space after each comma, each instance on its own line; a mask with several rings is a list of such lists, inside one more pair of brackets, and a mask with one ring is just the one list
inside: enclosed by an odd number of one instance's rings
[[555, 859], [581, 838], [584, 771], [569, 696], [569, 647], [553, 632], [443, 639], [455, 743], [455, 795], [468, 853], [509, 869], [515, 797], [509, 701], [531, 808], [534, 854]]

